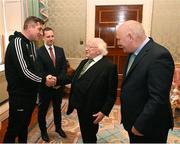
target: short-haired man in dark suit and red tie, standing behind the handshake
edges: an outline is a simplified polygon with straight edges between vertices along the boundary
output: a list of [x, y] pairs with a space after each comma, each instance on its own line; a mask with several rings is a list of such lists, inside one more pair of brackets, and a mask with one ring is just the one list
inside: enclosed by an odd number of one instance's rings
[[61, 102], [67, 71], [66, 58], [63, 48], [54, 45], [54, 32], [51, 28], [46, 27], [43, 30], [44, 46], [38, 49], [37, 59], [40, 64], [40, 73], [42, 76], [51, 74], [57, 80], [54, 87], [40, 85], [39, 89], [39, 111], [38, 122], [41, 130], [42, 139], [49, 142], [49, 136], [46, 129], [46, 114], [50, 101], [52, 100], [54, 123], [56, 132], [66, 137], [61, 128]]

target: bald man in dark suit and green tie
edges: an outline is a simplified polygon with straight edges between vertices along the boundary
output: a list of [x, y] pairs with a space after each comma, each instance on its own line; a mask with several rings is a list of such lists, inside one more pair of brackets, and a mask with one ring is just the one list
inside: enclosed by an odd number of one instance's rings
[[169, 101], [174, 61], [169, 51], [145, 35], [137, 21], [117, 28], [117, 41], [129, 53], [123, 73], [121, 114], [131, 143], [165, 143], [173, 128]]

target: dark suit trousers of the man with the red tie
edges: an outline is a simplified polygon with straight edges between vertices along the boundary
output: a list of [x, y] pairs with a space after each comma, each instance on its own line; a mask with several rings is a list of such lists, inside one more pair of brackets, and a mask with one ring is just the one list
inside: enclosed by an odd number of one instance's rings
[[48, 112], [49, 104], [52, 101], [54, 124], [56, 130], [61, 128], [61, 103], [63, 92], [54, 90], [52, 92], [40, 92], [39, 93], [39, 110], [38, 110], [38, 123], [41, 132], [46, 132], [46, 115]]

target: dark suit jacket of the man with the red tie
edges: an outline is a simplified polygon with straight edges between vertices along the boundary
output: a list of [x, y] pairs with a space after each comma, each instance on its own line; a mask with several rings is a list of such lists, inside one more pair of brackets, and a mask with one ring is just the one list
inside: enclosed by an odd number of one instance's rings
[[[55, 50], [55, 58], [56, 58], [56, 66], [53, 65], [51, 57], [49, 56], [48, 51], [45, 46], [42, 46], [37, 50], [37, 62], [39, 64], [39, 72], [41, 76], [47, 76], [49, 74], [57, 77], [57, 84], [62, 87], [66, 84], [66, 57], [64, 54], [63, 48], [54, 46]], [[52, 88], [47, 87], [45, 84], [40, 86], [41, 91], [51, 91]]]

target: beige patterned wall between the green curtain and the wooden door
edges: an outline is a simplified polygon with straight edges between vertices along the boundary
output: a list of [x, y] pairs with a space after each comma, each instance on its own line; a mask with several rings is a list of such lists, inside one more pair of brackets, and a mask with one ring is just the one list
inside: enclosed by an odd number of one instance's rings
[[[50, 0], [48, 26], [66, 57], [83, 58], [86, 35], [86, 0]], [[80, 42], [83, 44], [80, 44]]]

